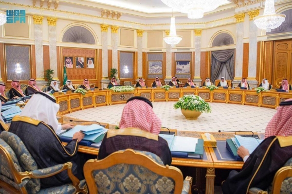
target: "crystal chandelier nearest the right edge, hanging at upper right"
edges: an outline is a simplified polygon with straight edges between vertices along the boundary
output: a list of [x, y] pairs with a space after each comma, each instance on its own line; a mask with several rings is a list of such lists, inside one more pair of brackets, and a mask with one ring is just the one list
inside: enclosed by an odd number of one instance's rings
[[271, 29], [279, 27], [285, 21], [286, 15], [276, 14], [274, 0], [266, 0], [264, 15], [258, 16], [254, 20], [254, 24], [262, 30], [271, 32]]

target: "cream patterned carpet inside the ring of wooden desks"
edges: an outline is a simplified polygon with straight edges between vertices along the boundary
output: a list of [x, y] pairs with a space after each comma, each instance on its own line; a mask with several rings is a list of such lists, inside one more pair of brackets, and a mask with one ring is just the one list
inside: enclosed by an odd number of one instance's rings
[[[264, 133], [276, 109], [225, 103], [209, 103], [212, 112], [202, 113], [198, 120], [186, 120], [180, 109], [173, 109], [175, 102], [153, 102], [153, 110], [162, 120], [162, 126], [182, 131], [218, 132], [254, 131]], [[100, 106], [67, 114], [86, 121], [116, 124], [120, 122], [125, 104]]]

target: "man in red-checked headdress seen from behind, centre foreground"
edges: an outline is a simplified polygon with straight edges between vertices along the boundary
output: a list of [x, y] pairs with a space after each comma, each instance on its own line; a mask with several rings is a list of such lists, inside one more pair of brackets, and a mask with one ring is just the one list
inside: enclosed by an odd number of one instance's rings
[[167, 141], [158, 136], [161, 120], [152, 107], [152, 103], [144, 97], [128, 99], [122, 113], [120, 129], [107, 132], [101, 143], [98, 159], [104, 159], [118, 150], [132, 148], [156, 154], [165, 165], [170, 165], [170, 149]]

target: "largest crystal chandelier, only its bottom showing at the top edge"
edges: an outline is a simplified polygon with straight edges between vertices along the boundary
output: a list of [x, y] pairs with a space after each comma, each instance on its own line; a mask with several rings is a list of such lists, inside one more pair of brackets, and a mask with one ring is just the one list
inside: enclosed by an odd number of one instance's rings
[[205, 12], [210, 12], [226, 0], [161, 0], [167, 6], [187, 14], [190, 19], [203, 18]]

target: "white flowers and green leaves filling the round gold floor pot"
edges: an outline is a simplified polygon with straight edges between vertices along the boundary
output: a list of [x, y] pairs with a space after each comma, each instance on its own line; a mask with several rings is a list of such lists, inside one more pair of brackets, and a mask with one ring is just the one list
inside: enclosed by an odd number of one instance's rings
[[211, 112], [211, 106], [205, 102], [200, 96], [197, 95], [185, 95], [174, 104], [174, 109], [189, 109], [205, 113]]

